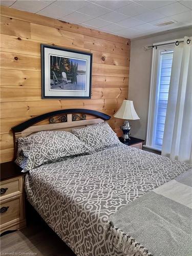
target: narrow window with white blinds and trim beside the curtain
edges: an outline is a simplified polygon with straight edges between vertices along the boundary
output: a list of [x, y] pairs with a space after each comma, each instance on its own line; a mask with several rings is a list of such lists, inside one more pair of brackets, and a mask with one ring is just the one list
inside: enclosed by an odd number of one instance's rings
[[173, 45], [154, 48], [146, 146], [161, 151], [165, 125]]

